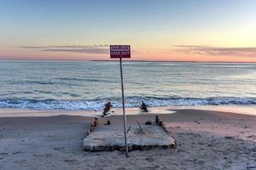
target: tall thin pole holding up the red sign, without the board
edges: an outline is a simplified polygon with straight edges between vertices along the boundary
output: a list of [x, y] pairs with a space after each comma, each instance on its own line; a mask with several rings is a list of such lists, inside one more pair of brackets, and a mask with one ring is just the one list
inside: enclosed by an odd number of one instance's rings
[[128, 157], [129, 155], [128, 155], [128, 144], [127, 144], [127, 136], [126, 136], [125, 94], [124, 94], [124, 82], [123, 82], [122, 57], [120, 57], [120, 73], [121, 73], [121, 88], [122, 88], [124, 131], [125, 131], [125, 155], [126, 157]]

